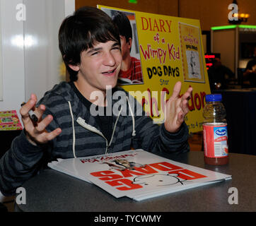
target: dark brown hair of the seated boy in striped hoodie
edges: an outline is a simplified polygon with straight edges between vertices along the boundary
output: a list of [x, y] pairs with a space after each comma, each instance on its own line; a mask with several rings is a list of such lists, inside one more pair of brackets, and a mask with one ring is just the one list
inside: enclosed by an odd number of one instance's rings
[[98, 8], [84, 6], [68, 16], [59, 28], [59, 50], [69, 71], [70, 80], [77, 80], [77, 71], [69, 67], [81, 63], [81, 52], [96, 42], [118, 42], [120, 34], [112, 19]]

